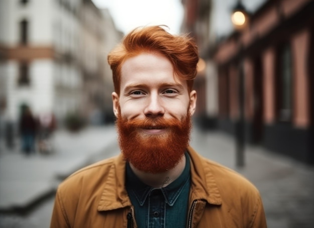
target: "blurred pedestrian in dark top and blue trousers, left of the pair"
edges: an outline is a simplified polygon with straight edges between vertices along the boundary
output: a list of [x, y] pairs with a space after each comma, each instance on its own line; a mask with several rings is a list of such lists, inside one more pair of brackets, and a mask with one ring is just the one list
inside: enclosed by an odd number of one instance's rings
[[24, 106], [20, 118], [20, 134], [22, 140], [22, 151], [29, 155], [35, 153], [35, 137], [37, 130], [37, 120], [33, 116], [29, 106]]

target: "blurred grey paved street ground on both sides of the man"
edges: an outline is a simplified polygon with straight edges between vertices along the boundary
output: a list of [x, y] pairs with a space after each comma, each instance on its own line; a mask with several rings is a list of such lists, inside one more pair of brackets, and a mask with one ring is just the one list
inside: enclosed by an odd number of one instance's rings
[[[234, 139], [196, 127], [191, 145], [203, 156], [237, 170], [260, 190], [270, 228], [314, 225], [314, 167], [274, 155], [260, 147], [245, 148], [245, 166], [235, 166]], [[0, 153], [0, 227], [49, 227], [54, 193], [75, 170], [119, 153], [113, 125], [90, 127], [78, 134], [57, 131], [55, 151], [26, 156]]]

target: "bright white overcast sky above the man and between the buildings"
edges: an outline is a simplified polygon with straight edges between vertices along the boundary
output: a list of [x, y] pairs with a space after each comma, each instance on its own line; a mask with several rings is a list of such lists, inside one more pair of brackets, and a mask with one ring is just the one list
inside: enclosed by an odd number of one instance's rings
[[[183, 20], [181, 0], [92, 0], [96, 7], [107, 8], [116, 27], [124, 34], [138, 26], [167, 25], [171, 33], [180, 33]], [[242, 0], [248, 11], [254, 12], [266, 0]], [[214, 0], [213, 21], [215, 33], [226, 36], [233, 27], [230, 12], [237, 0]]]

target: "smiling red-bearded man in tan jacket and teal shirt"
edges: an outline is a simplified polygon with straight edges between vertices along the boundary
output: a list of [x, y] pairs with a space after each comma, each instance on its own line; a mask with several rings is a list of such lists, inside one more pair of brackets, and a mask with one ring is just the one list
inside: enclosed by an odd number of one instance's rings
[[122, 153], [59, 186], [51, 227], [266, 227], [257, 189], [189, 147], [195, 43], [137, 28], [108, 62]]

